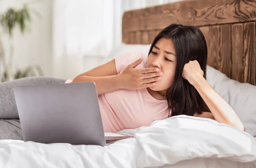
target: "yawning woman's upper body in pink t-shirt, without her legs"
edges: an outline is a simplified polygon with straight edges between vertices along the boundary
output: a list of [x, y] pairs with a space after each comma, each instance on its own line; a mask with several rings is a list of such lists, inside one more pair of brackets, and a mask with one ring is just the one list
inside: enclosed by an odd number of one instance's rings
[[181, 114], [245, 130], [206, 81], [206, 65], [207, 44], [200, 29], [172, 24], [156, 36], [148, 55], [119, 55], [78, 75], [73, 83], [96, 83], [105, 132], [148, 126]]

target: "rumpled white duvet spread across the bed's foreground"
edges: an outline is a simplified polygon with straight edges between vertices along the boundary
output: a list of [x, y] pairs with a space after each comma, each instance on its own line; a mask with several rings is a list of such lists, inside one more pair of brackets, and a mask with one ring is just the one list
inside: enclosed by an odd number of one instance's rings
[[134, 138], [105, 147], [1, 140], [0, 168], [256, 167], [253, 136], [211, 119], [174, 116], [120, 133]]

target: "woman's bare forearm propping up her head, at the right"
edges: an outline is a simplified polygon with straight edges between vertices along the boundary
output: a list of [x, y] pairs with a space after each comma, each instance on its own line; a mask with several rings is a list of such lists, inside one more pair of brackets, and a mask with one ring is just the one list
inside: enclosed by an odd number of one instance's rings
[[193, 86], [204, 99], [217, 122], [244, 130], [244, 125], [232, 107], [218, 95], [204, 77], [199, 78]]

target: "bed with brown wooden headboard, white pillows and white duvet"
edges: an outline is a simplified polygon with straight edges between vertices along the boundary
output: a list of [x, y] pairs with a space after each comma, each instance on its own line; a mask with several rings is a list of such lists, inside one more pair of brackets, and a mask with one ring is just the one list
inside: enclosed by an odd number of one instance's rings
[[198, 26], [204, 33], [207, 80], [234, 108], [247, 133], [181, 115], [122, 130], [134, 138], [106, 147], [45, 145], [23, 142], [18, 119], [1, 119], [1, 127], [4, 123], [15, 138], [0, 140], [0, 167], [256, 168], [256, 0], [181, 1], [127, 11], [123, 44], [108, 59], [130, 49], [148, 52], [157, 33], [171, 23]]

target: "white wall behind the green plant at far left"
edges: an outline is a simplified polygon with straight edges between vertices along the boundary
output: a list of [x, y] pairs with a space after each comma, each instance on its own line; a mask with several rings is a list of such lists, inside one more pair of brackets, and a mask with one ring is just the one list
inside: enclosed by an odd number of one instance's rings
[[[34, 0], [35, 2], [36, 0]], [[0, 13], [9, 7], [20, 8], [23, 3], [31, 0], [0, 0]], [[36, 9], [41, 18], [32, 17], [31, 32], [21, 35], [18, 29], [13, 35], [14, 66], [24, 68], [31, 64], [41, 65], [46, 76], [52, 76], [52, 0], [37, 0], [37, 3], [29, 3]], [[9, 47], [9, 37], [3, 36], [5, 49]]]

